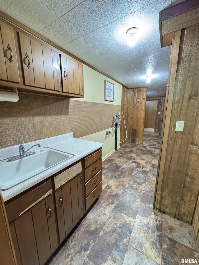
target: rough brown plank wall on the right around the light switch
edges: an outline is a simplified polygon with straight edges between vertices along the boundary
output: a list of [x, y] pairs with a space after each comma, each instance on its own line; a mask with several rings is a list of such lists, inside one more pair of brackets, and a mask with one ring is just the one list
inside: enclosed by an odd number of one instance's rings
[[[192, 223], [199, 191], [199, 26], [174, 32], [154, 208]], [[185, 121], [175, 131], [176, 121]], [[164, 121], [163, 121], [164, 124]]]

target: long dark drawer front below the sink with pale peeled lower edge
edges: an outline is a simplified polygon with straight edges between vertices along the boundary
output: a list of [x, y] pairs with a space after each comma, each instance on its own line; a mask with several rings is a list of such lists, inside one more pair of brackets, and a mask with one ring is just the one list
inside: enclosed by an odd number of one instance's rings
[[8, 222], [12, 222], [16, 217], [30, 209], [33, 205], [47, 197], [52, 192], [52, 181], [49, 180], [12, 203], [7, 204], [6, 212]]

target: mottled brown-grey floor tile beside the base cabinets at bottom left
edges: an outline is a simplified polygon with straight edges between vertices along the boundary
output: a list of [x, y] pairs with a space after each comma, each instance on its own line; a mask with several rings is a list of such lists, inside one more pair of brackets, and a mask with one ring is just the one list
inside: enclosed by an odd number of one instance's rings
[[49, 265], [81, 265], [84, 263], [102, 227], [84, 218]]

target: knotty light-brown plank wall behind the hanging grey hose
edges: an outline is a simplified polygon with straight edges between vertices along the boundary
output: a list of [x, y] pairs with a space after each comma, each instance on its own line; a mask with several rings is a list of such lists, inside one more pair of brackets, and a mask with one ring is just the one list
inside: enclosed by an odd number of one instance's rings
[[[146, 106], [146, 87], [122, 88], [122, 109], [127, 127], [127, 142], [142, 144]], [[120, 129], [120, 142], [126, 138], [124, 125]], [[122, 143], [121, 143], [122, 144]]]

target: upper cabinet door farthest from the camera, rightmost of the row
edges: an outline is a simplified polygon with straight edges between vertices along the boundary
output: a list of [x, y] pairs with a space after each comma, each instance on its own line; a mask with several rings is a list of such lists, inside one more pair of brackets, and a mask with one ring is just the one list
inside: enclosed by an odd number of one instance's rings
[[61, 54], [62, 91], [83, 95], [83, 64]]

